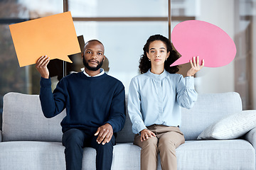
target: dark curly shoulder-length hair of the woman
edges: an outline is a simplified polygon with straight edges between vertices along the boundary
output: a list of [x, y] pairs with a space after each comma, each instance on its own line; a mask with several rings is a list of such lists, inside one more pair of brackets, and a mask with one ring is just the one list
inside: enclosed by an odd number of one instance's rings
[[151, 62], [149, 61], [149, 58], [146, 56], [146, 52], [149, 52], [149, 45], [151, 42], [155, 40], [161, 40], [161, 42], [164, 42], [167, 48], [167, 52], [170, 52], [168, 59], [164, 62], [164, 69], [171, 74], [178, 72], [179, 70], [178, 66], [170, 67], [171, 64], [173, 64], [176, 60], [178, 60], [178, 57], [179, 57], [178, 53], [175, 50], [173, 50], [173, 48], [171, 47], [171, 41], [168, 38], [164, 37], [163, 35], [159, 35], [159, 34], [151, 35], [149, 39], [146, 40], [146, 44], [143, 47], [144, 54], [141, 56], [139, 60], [140, 72], [144, 74], [148, 72], [149, 69], [151, 68]]

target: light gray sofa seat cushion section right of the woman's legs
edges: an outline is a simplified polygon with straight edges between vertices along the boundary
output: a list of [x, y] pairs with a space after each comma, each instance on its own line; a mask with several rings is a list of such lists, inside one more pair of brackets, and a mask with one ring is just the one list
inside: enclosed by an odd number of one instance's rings
[[255, 149], [245, 140], [186, 141], [176, 154], [178, 169], [255, 168]]

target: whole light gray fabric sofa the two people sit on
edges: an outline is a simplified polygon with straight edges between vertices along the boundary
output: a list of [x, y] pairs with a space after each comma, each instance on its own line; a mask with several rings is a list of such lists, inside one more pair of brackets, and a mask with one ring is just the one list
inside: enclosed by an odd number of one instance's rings
[[[178, 169], [255, 169], [256, 128], [235, 140], [196, 140], [212, 123], [241, 111], [237, 93], [198, 95], [193, 108], [182, 110], [181, 131], [186, 142], [176, 149]], [[55, 118], [44, 118], [38, 95], [6, 94], [0, 169], [65, 169], [60, 128], [64, 116], [65, 111]], [[140, 148], [132, 145], [134, 134], [129, 116], [117, 135], [112, 169], [139, 169]], [[95, 169], [95, 154], [95, 149], [84, 149], [82, 169]], [[157, 169], [161, 169], [160, 162]]]

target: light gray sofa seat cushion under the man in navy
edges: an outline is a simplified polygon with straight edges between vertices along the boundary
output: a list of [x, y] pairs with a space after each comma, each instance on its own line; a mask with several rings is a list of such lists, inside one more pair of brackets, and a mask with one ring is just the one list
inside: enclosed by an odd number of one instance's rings
[[[0, 169], [65, 169], [65, 154], [61, 142], [0, 142]], [[82, 170], [96, 169], [96, 150], [85, 147]], [[140, 148], [132, 143], [114, 146], [112, 169], [138, 169]]]

